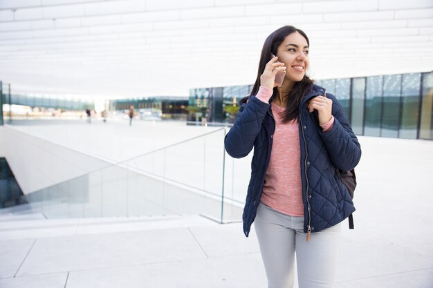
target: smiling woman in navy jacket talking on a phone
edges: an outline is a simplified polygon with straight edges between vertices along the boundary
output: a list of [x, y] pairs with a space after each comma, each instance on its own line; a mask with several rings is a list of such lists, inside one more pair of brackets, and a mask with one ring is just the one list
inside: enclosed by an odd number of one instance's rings
[[355, 211], [338, 169], [358, 164], [360, 144], [337, 99], [306, 76], [308, 50], [293, 26], [268, 36], [225, 137], [232, 157], [254, 148], [243, 231], [255, 221], [269, 288], [293, 287], [295, 255], [300, 288], [333, 287], [340, 222]]

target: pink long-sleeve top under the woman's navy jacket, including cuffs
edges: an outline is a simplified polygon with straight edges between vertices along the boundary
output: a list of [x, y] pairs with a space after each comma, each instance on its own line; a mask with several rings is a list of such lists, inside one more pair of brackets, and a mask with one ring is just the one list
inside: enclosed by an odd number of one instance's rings
[[[260, 86], [257, 98], [269, 102], [273, 90]], [[297, 119], [282, 122], [284, 107], [271, 103], [275, 118], [275, 133], [266, 171], [261, 202], [287, 215], [303, 216], [301, 180], [301, 148]], [[324, 132], [331, 130], [334, 117], [320, 125]]]

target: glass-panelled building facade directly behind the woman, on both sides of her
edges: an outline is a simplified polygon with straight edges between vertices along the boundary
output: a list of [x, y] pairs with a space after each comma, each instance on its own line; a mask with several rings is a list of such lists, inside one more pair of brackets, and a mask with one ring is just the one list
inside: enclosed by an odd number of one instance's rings
[[[433, 72], [315, 80], [337, 97], [357, 135], [433, 140]], [[234, 122], [252, 85], [190, 90], [208, 122]], [[203, 115], [201, 115], [203, 117]]]

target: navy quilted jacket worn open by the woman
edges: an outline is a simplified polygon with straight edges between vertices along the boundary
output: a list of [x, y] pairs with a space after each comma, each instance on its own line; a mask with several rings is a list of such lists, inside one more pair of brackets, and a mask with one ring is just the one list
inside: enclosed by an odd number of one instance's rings
[[[304, 202], [304, 232], [318, 232], [338, 224], [353, 211], [351, 196], [339, 179], [338, 169], [350, 170], [358, 164], [361, 148], [346, 115], [337, 99], [332, 99], [333, 128], [323, 133], [317, 122], [317, 111], [309, 113], [306, 102], [324, 95], [324, 88], [312, 85], [302, 99], [299, 113]], [[270, 102], [272, 98], [270, 99]], [[269, 102], [269, 103], [270, 103]], [[225, 150], [234, 158], [245, 157], [254, 148], [251, 179], [243, 209], [243, 232], [248, 237], [260, 202], [270, 151], [273, 144], [275, 120], [270, 104], [250, 97], [241, 105], [233, 127], [225, 135]]]

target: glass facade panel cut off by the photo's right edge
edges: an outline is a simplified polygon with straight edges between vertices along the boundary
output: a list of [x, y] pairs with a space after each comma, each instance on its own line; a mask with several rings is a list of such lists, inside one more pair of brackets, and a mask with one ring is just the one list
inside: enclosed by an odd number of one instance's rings
[[433, 140], [433, 73], [423, 73], [423, 102], [419, 137]]

